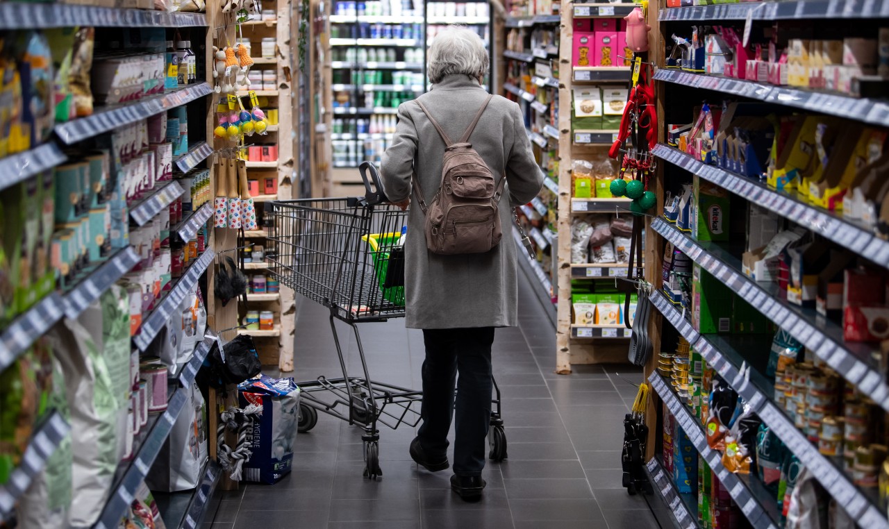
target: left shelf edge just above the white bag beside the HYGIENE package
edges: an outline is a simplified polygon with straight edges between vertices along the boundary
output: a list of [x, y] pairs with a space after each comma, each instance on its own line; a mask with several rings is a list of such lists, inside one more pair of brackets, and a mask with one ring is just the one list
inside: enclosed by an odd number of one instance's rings
[[148, 469], [151, 469], [157, 454], [160, 453], [164, 441], [170, 436], [172, 425], [182, 412], [188, 399], [188, 393], [191, 393], [191, 383], [195, 380], [197, 371], [204, 363], [204, 358], [214, 341], [216, 341], [216, 337], [210, 336], [197, 345], [185, 369], [180, 373], [179, 380], [173, 381], [175, 389], [173, 389], [172, 396], [167, 403], [166, 411], [154, 416], [154, 423], [141, 438], [140, 445], [138, 448], [133, 448], [132, 461], [124, 462], [118, 468], [122, 477], [116, 479], [108, 502], [102, 509], [99, 521], [95, 525], [96, 529], [115, 529], [117, 527], [124, 510], [132, 502], [133, 495], [148, 474]]

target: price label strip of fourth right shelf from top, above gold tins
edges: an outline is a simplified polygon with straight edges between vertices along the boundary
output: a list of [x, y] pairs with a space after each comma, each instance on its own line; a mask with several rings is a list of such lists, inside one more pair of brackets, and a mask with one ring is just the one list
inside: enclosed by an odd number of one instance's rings
[[664, 236], [676, 247], [706, 269], [744, 301], [757, 308], [775, 325], [790, 333], [805, 347], [828, 363], [847, 381], [858, 386], [868, 397], [889, 411], [889, 386], [882, 374], [869, 365], [864, 364], [852, 351], [846, 349], [845, 343], [837, 341], [825, 334], [814, 322], [807, 321], [805, 316], [797, 315], [796, 311], [778, 301], [773, 300], [771, 293], [766, 292], [756, 282], [733, 270], [721, 260], [704, 251], [701, 246], [682, 234], [677, 228], [670, 226], [663, 219], [652, 222], [652, 229]]

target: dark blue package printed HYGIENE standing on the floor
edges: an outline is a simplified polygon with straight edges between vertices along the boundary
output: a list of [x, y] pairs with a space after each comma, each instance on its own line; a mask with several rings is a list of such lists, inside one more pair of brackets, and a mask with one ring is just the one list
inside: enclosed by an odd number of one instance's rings
[[292, 467], [300, 389], [292, 378], [273, 379], [260, 374], [259, 378], [238, 385], [237, 393], [242, 408], [262, 406], [252, 432], [247, 434], [251, 454], [244, 461], [244, 481], [273, 485]]

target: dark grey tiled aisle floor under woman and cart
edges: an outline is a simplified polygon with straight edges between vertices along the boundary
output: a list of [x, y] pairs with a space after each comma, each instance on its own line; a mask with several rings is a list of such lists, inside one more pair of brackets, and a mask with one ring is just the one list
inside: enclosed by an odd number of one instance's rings
[[[625, 380], [638, 382], [639, 372], [620, 365], [552, 373], [555, 332], [530, 288], [520, 283], [521, 327], [498, 329], [494, 340], [509, 459], [488, 461], [481, 502], [452, 493], [450, 469], [418, 470], [408, 455], [411, 428], [382, 429], [383, 479], [364, 479], [361, 430], [322, 413], [315, 429], [297, 437], [292, 474], [225, 493], [207, 529], [657, 527], [645, 500], [621, 488], [621, 420], [636, 395]], [[354, 334], [338, 329], [357, 373]], [[372, 378], [420, 388], [419, 331], [406, 330], [404, 319], [359, 331]], [[326, 309], [303, 300], [296, 336], [297, 381], [339, 376]]]

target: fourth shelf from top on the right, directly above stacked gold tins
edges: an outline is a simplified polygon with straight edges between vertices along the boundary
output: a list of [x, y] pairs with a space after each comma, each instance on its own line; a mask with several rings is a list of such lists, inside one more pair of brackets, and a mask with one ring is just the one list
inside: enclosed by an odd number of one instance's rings
[[[676, 248], [701, 265], [713, 277], [728, 285], [741, 299], [747, 301], [775, 325], [780, 326], [847, 381], [889, 411], [889, 386], [873, 358], [872, 346], [866, 343], [845, 342], [843, 329], [831, 321], [824, 321], [814, 310], [803, 309], [782, 300], [773, 283], [757, 283], [741, 273], [738, 260], [716, 244], [702, 244], [685, 236], [666, 220], [655, 219], [652, 229], [673, 243]], [[705, 247], [706, 246], [706, 247]]]

